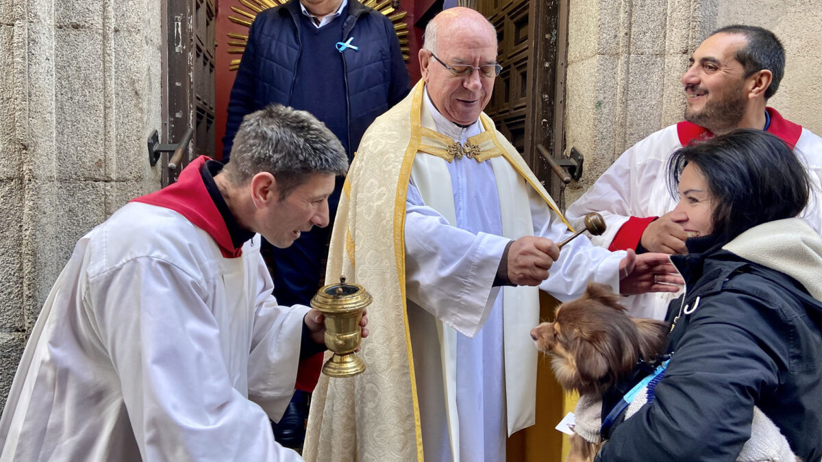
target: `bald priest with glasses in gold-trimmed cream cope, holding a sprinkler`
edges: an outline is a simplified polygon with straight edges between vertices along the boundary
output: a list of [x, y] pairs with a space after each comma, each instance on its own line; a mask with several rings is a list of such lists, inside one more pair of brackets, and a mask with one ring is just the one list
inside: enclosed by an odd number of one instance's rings
[[635, 260], [584, 237], [559, 251], [568, 224], [481, 114], [496, 54], [478, 12], [441, 12], [419, 53], [423, 81], [363, 137], [326, 280], [374, 296], [368, 369], [321, 377], [306, 460], [505, 460], [506, 436], [534, 423], [539, 289], [560, 300], [589, 280], [676, 290], [653, 280], [677, 282], [666, 256]]

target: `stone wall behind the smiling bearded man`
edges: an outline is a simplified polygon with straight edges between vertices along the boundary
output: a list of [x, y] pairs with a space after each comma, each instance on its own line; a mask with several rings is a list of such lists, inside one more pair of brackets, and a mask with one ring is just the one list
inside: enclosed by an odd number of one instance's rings
[[822, 5], [818, 0], [570, 0], [566, 149], [585, 155], [581, 196], [626, 148], [681, 120], [680, 77], [711, 30], [761, 25], [787, 51], [783, 84], [770, 104], [822, 132]]

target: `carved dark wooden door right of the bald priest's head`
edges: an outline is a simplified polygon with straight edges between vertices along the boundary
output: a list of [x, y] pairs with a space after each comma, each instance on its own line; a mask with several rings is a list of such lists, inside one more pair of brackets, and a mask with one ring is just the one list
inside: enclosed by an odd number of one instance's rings
[[556, 81], [557, 76], [565, 78], [565, 49], [563, 40], [557, 39], [564, 36], [560, 3], [478, 0], [477, 10], [496, 27], [498, 61], [503, 65], [485, 112], [562, 207], [562, 183], [537, 150], [541, 143], [555, 156], [562, 151], [564, 89], [558, 89]]

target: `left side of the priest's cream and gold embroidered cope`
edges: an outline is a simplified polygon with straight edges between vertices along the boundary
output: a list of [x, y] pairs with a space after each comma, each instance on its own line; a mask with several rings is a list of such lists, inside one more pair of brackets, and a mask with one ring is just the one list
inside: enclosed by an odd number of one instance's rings
[[409, 124], [413, 95], [421, 93], [412, 90], [368, 128], [339, 200], [326, 280], [344, 275], [372, 294], [371, 334], [358, 353], [367, 369], [320, 377], [302, 450], [308, 462], [423, 462], [404, 293], [405, 188], [420, 140]]

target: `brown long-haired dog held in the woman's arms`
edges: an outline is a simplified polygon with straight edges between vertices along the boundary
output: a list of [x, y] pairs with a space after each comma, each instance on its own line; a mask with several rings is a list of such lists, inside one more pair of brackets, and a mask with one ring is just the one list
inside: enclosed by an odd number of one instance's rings
[[[564, 389], [601, 395], [633, 371], [640, 354], [649, 360], [659, 353], [668, 323], [629, 317], [621, 298], [605, 284], [589, 283], [582, 297], [556, 308], [556, 321], [531, 330]], [[593, 460], [598, 450], [578, 434], [570, 443], [569, 461]]]

